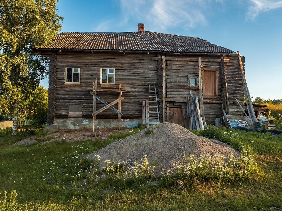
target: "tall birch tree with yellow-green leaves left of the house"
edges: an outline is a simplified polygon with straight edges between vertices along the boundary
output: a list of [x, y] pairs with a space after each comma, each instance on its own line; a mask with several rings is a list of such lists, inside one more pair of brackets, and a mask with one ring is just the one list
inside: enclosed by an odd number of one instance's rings
[[[31, 55], [61, 30], [58, 0], [0, 0], [0, 110], [14, 116], [18, 131], [18, 103], [28, 82], [37, 86], [47, 74], [47, 59]], [[32, 87], [30, 87], [32, 88]]]

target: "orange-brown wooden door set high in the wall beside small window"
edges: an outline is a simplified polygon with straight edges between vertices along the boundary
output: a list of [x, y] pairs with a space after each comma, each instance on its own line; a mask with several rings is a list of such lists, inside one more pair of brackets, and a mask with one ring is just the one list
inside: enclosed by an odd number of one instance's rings
[[204, 70], [203, 79], [204, 79], [203, 95], [217, 96], [218, 95], [217, 70], [216, 71]]

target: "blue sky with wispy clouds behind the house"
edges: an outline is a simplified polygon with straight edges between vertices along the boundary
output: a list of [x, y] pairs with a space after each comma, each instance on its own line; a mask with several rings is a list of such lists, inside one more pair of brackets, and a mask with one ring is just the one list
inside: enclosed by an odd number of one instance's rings
[[240, 51], [250, 95], [282, 98], [281, 0], [59, 0], [57, 8], [64, 32], [136, 32], [144, 23]]

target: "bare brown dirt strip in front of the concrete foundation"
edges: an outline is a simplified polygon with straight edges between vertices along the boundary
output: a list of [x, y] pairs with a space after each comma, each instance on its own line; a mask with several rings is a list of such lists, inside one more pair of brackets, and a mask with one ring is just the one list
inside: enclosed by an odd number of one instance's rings
[[[131, 131], [132, 129], [97, 129], [94, 131], [94, 133], [98, 133], [98, 131], [101, 131], [102, 133], [108, 133], [108, 134], [116, 134], [116, 133], [126, 133]], [[75, 142], [75, 141], [85, 141], [91, 139], [91, 137], [88, 136], [87, 132], [92, 132], [92, 129], [83, 129], [83, 130], [58, 130], [58, 132], [54, 133], [54, 131], [50, 131], [46, 135], [45, 144], [48, 144], [52, 141], [58, 141], [61, 142], [65, 140], [66, 142]], [[39, 136], [40, 137], [40, 136]], [[40, 143], [34, 139], [38, 138], [37, 136], [30, 136], [26, 139], [23, 139], [17, 143], [14, 143], [13, 145], [30, 145], [33, 143]]]

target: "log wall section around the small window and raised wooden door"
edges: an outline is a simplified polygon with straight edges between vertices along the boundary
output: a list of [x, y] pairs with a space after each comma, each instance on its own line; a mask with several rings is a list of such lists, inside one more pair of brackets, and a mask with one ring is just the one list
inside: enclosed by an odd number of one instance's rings
[[[202, 59], [202, 75], [203, 71], [217, 71], [218, 78], [218, 94], [217, 96], [203, 96], [204, 100], [204, 113], [207, 124], [214, 123], [215, 118], [221, 113], [221, 80], [220, 80], [220, 56], [173, 56], [169, 55], [166, 57], [169, 65], [166, 67], [166, 89], [167, 89], [167, 101], [178, 102], [169, 104], [169, 106], [186, 106], [186, 96], [190, 95], [190, 91], [193, 92], [194, 96], [199, 96], [198, 86], [188, 86], [189, 77], [199, 76], [199, 62], [198, 58]], [[173, 58], [173, 59], [170, 59]], [[182, 58], [182, 61], [181, 61]], [[175, 61], [175, 59], [179, 59]], [[202, 84], [204, 84], [203, 78], [201, 78]], [[202, 89], [203, 89], [202, 85]], [[185, 111], [187, 115], [187, 110]]]

